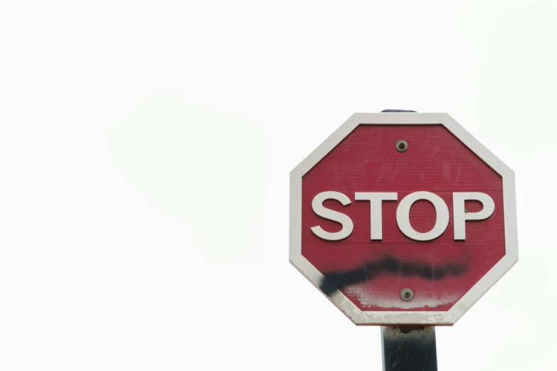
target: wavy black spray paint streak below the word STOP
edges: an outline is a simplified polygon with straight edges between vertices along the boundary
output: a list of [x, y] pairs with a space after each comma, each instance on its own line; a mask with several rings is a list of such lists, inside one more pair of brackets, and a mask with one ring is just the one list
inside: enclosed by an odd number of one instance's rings
[[438, 281], [448, 274], [460, 276], [467, 271], [466, 264], [445, 264], [442, 266], [425, 265], [415, 262], [403, 262], [394, 257], [384, 257], [377, 262], [370, 262], [351, 271], [331, 272], [324, 275], [319, 284], [324, 294], [330, 296], [335, 290], [346, 286], [371, 281], [379, 274], [398, 274], [398, 276], [419, 276], [423, 279]]

